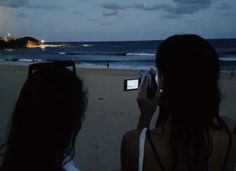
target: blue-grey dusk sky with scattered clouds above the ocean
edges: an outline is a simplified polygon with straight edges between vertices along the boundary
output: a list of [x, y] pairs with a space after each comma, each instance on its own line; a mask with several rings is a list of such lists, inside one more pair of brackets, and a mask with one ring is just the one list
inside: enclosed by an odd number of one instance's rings
[[0, 36], [46, 41], [236, 38], [236, 0], [0, 0]]

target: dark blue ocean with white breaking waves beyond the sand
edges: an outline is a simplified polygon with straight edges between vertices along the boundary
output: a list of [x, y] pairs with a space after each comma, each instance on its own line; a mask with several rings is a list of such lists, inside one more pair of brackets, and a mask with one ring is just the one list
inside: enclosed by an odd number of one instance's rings
[[[208, 40], [220, 56], [222, 71], [236, 71], [236, 39]], [[0, 61], [31, 63], [74, 60], [81, 67], [147, 69], [155, 66], [156, 49], [161, 41], [51, 42], [64, 47], [0, 49]]]

